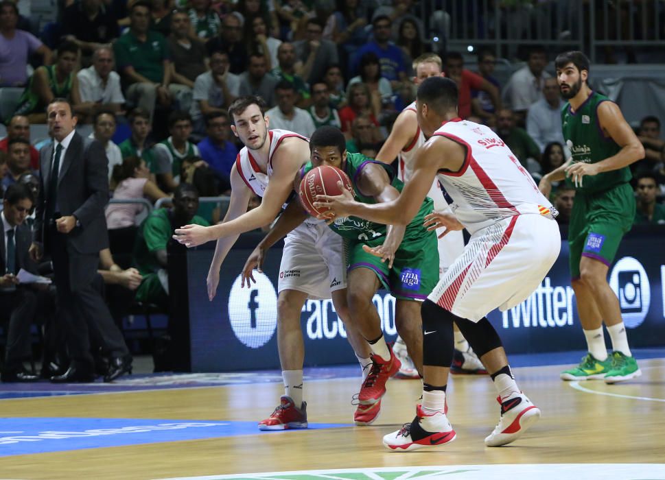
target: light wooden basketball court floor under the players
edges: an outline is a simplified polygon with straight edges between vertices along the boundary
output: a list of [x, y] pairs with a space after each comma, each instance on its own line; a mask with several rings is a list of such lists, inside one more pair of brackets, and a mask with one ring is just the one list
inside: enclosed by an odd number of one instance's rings
[[[277, 472], [294, 470], [370, 468], [377, 473], [367, 477], [353, 473], [301, 477], [289, 473], [279, 478], [384, 479], [412, 478], [412, 474], [386, 477], [381, 468], [489, 465], [487, 468], [498, 471], [495, 464], [530, 464], [529, 468], [543, 468], [542, 464], [635, 464], [633, 478], [645, 478], [640, 476], [638, 464], [665, 462], [665, 359], [642, 360], [640, 367], [640, 379], [617, 385], [598, 381], [564, 383], [559, 380], [560, 366], [515, 368], [520, 387], [543, 416], [522, 439], [501, 448], [487, 448], [483, 443], [499, 416], [495, 390], [486, 376], [453, 376], [449, 383], [448, 415], [457, 432], [454, 442], [438, 451], [390, 453], [381, 444], [382, 436], [412, 420], [421, 383], [390, 380], [380, 418], [371, 427], [355, 427], [351, 396], [358, 391], [359, 379], [317, 381], [314, 370], [305, 383], [311, 429], [249, 429], [240, 435], [182, 441], [164, 441], [163, 433], [155, 431], [152, 443], [125, 446], [104, 446], [108, 435], [102, 435], [95, 437], [100, 448], [69, 451], [58, 451], [58, 442], [65, 440], [33, 440], [31, 445], [54, 443], [46, 448], [49, 451], [29, 455], [2, 453], [16, 443], [5, 443], [0, 438], [0, 478], [165, 479], [272, 472], [256, 476], [272, 479], [279, 475]], [[91, 418], [255, 423], [270, 414], [282, 393], [281, 383], [261, 382], [0, 400], [0, 437], [21, 435], [19, 430], [6, 428], [11, 422], [21, 422], [21, 418], [30, 418], [31, 422], [40, 418]], [[318, 429], [317, 424], [327, 425]], [[97, 428], [95, 422], [88, 428]], [[565, 466], [549, 470], [557, 472], [561, 468], [559, 477], [574, 472], [574, 468], [566, 470]], [[651, 468], [662, 472], [657, 476], [652, 471], [649, 478], [665, 478], [665, 466]], [[619, 475], [619, 470], [616, 473]], [[619, 477], [625, 478], [622, 474]]]

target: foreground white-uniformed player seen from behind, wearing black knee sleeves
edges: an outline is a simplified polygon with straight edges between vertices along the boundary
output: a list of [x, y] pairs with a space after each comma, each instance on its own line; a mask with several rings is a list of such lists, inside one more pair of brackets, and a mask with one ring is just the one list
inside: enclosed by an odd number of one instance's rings
[[[452, 197], [453, 213], [432, 213], [425, 224], [430, 230], [467, 228], [471, 233], [463, 254], [423, 302], [424, 381], [436, 388], [423, 392], [412, 422], [384, 436], [391, 451], [442, 445], [455, 438], [445, 415], [453, 323], [487, 366], [498, 392], [501, 416], [485, 444], [514, 442], [540, 417], [539, 409], [517, 387], [486, 315], [526, 300], [555, 263], [561, 249], [556, 212], [495, 132], [457, 117], [457, 102], [457, 86], [450, 79], [432, 77], [419, 86], [418, 125], [432, 138], [421, 147], [411, 180], [397, 200], [360, 204], [345, 192], [320, 195], [314, 203], [329, 208], [323, 215], [406, 224], [438, 177]], [[375, 254], [383, 254], [381, 247]]]

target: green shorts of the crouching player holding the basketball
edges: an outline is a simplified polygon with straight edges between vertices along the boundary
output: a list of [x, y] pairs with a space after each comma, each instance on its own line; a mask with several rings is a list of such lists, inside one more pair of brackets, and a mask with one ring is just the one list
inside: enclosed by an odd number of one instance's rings
[[378, 256], [362, 250], [362, 245], [376, 247], [382, 245], [385, 237], [372, 241], [347, 241], [349, 270], [369, 268], [373, 270], [384, 288], [395, 298], [405, 300], [425, 300], [439, 283], [439, 245], [436, 232], [408, 231], [395, 252], [393, 268], [382, 262]]

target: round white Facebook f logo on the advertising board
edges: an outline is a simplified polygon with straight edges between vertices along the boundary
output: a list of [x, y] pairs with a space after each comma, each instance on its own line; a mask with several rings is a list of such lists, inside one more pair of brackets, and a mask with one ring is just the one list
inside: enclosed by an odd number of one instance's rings
[[229, 293], [229, 322], [238, 340], [249, 348], [261, 348], [277, 328], [277, 293], [266, 274], [254, 272], [256, 283], [242, 288], [238, 275]]

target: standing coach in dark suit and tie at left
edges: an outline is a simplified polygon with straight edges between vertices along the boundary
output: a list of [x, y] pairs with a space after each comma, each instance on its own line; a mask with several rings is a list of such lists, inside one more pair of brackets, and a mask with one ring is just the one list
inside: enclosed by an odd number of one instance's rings
[[51, 254], [54, 281], [67, 333], [71, 363], [54, 382], [95, 379], [90, 337], [110, 355], [105, 381], [131, 369], [124, 339], [113, 322], [99, 289], [100, 250], [108, 247], [104, 206], [108, 202], [108, 160], [102, 144], [83, 139], [74, 127], [71, 105], [54, 99], [47, 108], [54, 141], [40, 151], [41, 186], [36, 205], [33, 259]]

